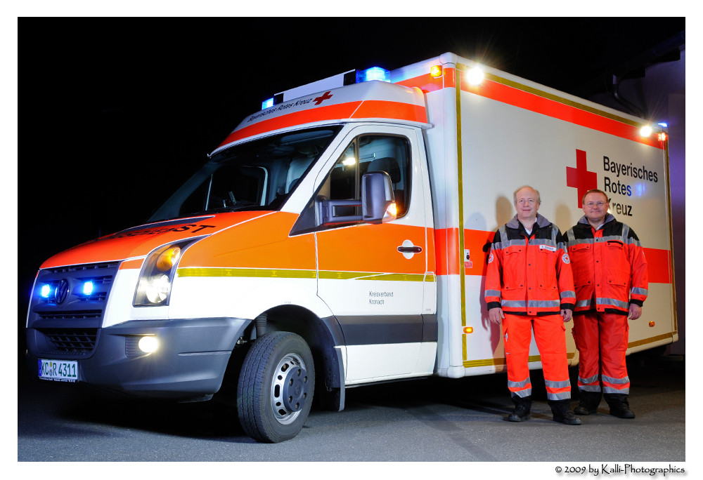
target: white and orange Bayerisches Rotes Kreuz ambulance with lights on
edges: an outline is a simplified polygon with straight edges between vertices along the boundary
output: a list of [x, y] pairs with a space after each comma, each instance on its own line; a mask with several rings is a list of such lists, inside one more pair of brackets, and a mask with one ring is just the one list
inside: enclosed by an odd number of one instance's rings
[[505, 372], [486, 256], [525, 184], [562, 232], [607, 192], [649, 266], [628, 352], [678, 340], [666, 133], [445, 53], [279, 93], [147, 225], [46, 260], [30, 368], [118, 396], [236, 392], [264, 442], [351, 387]]

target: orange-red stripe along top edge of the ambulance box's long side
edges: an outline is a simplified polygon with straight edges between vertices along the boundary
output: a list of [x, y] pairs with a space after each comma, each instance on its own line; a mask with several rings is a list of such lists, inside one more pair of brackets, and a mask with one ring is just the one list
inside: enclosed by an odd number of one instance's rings
[[568, 121], [575, 125], [593, 128], [593, 130], [626, 138], [633, 142], [644, 143], [645, 145], [650, 145], [650, 147], [663, 148], [662, 142], [654, 140], [653, 138], [643, 138], [640, 136], [640, 129], [636, 126], [624, 124], [621, 121], [609, 119], [592, 112], [586, 112], [586, 110], [572, 107], [571, 105], [565, 105], [564, 103], [550, 100], [549, 98], [544, 98], [534, 93], [522, 91], [519, 88], [513, 88], [497, 81], [486, 79], [481, 86], [469, 86], [464, 84], [461, 86], [461, 89], [485, 98], [507, 103], [508, 105], [514, 105], [515, 107], [548, 115], [555, 119]]

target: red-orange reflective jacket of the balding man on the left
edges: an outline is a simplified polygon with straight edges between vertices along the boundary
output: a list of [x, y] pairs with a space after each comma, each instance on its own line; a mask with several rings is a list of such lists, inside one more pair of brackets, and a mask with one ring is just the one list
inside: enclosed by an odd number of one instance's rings
[[515, 315], [550, 315], [574, 309], [569, 255], [556, 225], [537, 215], [528, 236], [515, 215], [494, 236], [486, 270], [488, 308]]

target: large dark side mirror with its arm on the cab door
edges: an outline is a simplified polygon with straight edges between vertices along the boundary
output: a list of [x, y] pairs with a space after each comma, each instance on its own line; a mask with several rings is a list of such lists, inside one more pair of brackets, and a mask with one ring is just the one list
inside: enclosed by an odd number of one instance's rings
[[[395, 220], [393, 185], [386, 172], [366, 173], [361, 177], [361, 200], [316, 199], [318, 225], [342, 223], [382, 223]], [[361, 207], [361, 215], [359, 213]]]

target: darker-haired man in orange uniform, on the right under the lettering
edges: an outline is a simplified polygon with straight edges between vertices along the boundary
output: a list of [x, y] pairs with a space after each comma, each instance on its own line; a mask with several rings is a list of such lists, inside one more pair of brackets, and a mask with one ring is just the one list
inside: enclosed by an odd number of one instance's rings
[[635, 232], [608, 213], [605, 192], [589, 190], [581, 203], [585, 215], [566, 234], [576, 285], [574, 340], [580, 357], [575, 411], [596, 413], [602, 394], [611, 415], [635, 418], [627, 401], [627, 319], [642, 314], [647, 260]]

